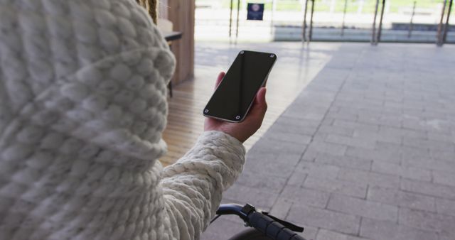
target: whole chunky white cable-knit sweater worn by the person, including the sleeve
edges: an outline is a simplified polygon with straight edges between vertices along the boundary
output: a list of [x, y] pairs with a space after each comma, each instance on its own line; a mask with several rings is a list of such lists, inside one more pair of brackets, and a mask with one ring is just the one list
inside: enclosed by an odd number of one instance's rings
[[173, 66], [134, 0], [0, 0], [1, 240], [199, 238], [245, 149], [161, 167]]

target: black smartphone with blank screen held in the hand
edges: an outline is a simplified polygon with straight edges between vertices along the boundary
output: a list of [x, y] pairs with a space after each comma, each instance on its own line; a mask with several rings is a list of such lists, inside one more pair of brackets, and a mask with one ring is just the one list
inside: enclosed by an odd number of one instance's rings
[[274, 53], [240, 51], [204, 108], [204, 116], [243, 121], [276, 61]]

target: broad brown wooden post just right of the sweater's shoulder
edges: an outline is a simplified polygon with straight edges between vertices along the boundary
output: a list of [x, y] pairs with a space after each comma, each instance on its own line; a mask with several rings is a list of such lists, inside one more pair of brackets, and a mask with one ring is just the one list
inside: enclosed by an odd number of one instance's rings
[[194, 76], [194, 11], [195, 1], [168, 1], [168, 20], [173, 31], [182, 32], [182, 38], [174, 41], [172, 52], [176, 57], [173, 84], [191, 80]]

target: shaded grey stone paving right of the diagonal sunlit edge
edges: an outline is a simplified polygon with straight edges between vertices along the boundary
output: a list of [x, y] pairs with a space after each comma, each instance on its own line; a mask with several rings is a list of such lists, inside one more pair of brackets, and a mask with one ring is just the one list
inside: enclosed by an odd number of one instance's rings
[[[247, 154], [223, 202], [307, 239], [455, 239], [455, 46], [344, 44]], [[202, 239], [242, 231], [222, 217]]]

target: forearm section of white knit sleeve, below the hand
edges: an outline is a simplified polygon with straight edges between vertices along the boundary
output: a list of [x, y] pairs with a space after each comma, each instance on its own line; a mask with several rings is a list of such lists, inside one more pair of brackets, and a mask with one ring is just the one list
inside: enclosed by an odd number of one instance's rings
[[161, 186], [174, 236], [199, 239], [244, 162], [242, 143], [220, 131], [208, 131], [183, 158], [165, 168]]

